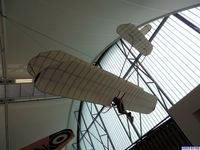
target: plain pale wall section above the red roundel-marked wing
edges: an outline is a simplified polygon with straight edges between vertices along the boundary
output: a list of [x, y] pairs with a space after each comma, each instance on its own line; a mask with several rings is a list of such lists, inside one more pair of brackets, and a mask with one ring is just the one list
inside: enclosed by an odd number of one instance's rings
[[[4, 114], [2, 107], [3, 105], [0, 106], [0, 115]], [[9, 149], [17, 150], [67, 128], [70, 107], [70, 99], [9, 103]], [[0, 144], [5, 145], [5, 140], [2, 139], [4, 117], [0, 118]]]

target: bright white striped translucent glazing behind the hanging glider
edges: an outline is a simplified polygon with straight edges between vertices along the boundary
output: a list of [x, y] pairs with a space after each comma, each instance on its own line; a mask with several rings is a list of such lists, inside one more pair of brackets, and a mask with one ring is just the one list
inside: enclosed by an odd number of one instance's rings
[[[88, 125], [91, 128], [85, 127], [80, 132], [86, 132], [88, 137], [90, 132], [96, 134], [95, 138], [101, 141], [104, 149], [125, 149], [168, 117], [167, 110], [200, 83], [199, 20], [200, 7], [197, 7], [151, 22], [152, 30], [146, 37], [153, 44], [153, 51], [147, 57], [140, 57], [139, 63], [135, 63], [133, 67], [131, 65], [138, 52], [123, 39], [116, 42], [98, 65], [155, 94], [158, 97], [156, 109], [148, 115], [132, 112], [134, 125], [131, 126], [126, 117], [113, 108], [100, 111], [102, 106], [84, 103], [84, 117], [81, 120], [94, 119], [95, 116], [96, 121], [93, 124], [90, 121]], [[87, 111], [94, 110], [93, 107], [98, 108], [97, 112], [93, 116], [87, 115]], [[98, 112], [101, 112], [99, 116]], [[105, 125], [107, 141], [103, 140], [103, 132], [98, 127], [92, 128], [95, 123]], [[91, 143], [98, 142], [92, 136], [89, 138], [90, 142], [87, 137], [82, 136], [81, 139], [80, 146], [83, 147], [95, 147]]]

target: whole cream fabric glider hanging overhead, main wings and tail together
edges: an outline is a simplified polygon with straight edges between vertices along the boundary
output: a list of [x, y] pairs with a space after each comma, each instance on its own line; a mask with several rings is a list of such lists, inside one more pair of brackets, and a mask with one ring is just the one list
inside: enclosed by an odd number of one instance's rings
[[[147, 56], [153, 46], [144, 34], [150, 29], [150, 25], [138, 30], [132, 24], [122, 24], [117, 33]], [[132, 116], [127, 110], [148, 114], [156, 106], [157, 97], [141, 87], [63, 51], [39, 53], [29, 61], [27, 70], [35, 86], [44, 93], [104, 106], [116, 105], [119, 113], [129, 119]]]

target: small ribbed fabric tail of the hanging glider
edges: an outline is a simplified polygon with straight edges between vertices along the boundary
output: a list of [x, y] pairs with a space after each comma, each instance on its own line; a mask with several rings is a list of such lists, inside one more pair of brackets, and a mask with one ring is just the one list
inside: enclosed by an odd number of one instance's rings
[[[147, 29], [148, 28], [148, 29]], [[149, 26], [145, 27], [143, 32], [149, 30]], [[137, 49], [142, 55], [147, 56], [151, 53], [153, 46], [146, 39], [144, 34], [137, 29], [133, 24], [121, 24], [117, 27], [117, 33], [129, 42], [135, 49]]]

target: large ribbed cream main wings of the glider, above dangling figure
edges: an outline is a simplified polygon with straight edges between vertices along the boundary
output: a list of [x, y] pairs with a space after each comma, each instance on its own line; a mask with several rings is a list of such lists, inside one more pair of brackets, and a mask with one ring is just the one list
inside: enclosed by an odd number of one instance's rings
[[[124, 102], [133, 104], [127, 107], [129, 110], [149, 113], [155, 107], [149, 107], [148, 97], [142, 95], [150, 94], [142, 88], [61, 51], [39, 54], [29, 62], [28, 70], [35, 79], [35, 86], [49, 94], [105, 106], [109, 106], [114, 97], [125, 94]], [[156, 97], [152, 97], [156, 103]]]

